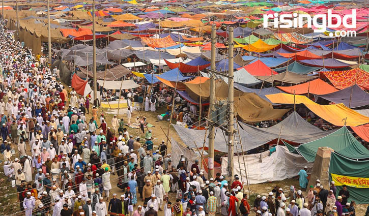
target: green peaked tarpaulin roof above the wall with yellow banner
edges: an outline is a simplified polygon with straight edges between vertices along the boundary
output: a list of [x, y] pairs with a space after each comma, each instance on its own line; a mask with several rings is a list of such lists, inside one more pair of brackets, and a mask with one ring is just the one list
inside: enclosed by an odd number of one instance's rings
[[[289, 146], [286, 142], [284, 143], [291, 152], [295, 152], [293, 150], [295, 147]], [[296, 150], [307, 162], [314, 162], [318, 148], [325, 146], [332, 148], [339, 155], [347, 158], [369, 159], [369, 150], [358, 142], [346, 127], [342, 127], [328, 136], [313, 142], [302, 144]]]

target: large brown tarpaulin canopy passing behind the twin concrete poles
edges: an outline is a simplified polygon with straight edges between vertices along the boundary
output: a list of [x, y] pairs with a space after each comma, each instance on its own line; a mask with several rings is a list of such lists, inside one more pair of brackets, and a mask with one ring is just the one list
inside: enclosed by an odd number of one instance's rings
[[[186, 91], [192, 99], [198, 98], [207, 100], [210, 97], [210, 80], [202, 84], [186, 83]], [[229, 85], [222, 80], [215, 81], [215, 97], [217, 100], [225, 100], [228, 98]], [[253, 93], [244, 93], [234, 90], [235, 110], [237, 115], [245, 121], [255, 122], [267, 119], [276, 119], [283, 116], [289, 109], [273, 109], [271, 103], [263, 100]]]

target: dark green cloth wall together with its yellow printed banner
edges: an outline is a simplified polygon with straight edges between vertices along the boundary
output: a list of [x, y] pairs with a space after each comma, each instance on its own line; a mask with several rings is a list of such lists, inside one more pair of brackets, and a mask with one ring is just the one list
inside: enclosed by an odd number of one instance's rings
[[[350, 191], [350, 197], [348, 202], [354, 200], [358, 204], [367, 204], [369, 200], [369, 188], [367, 186], [367, 181], [369, 179], [369, 160], [357, 161], [341, 156], [338, 153], [332, 152], [329, 162], [329, 181], [334, 180], [337, 187], [337, 191], [342, 189], [342, 186], [346, 184], [348, 186], [348, 191]], [[342, 179], [340, 182], [338, 179], [332, 179], [332, 174], [341, 175]], [[350, 181], [344, 181], [343, 179]], [[355, 178], [357, 184], [360, 179], [360, 187], [354, 184]], [[363, 185], [365, 184], [365, 185]], [[361, 188], [363, 187], [364, 188]]]

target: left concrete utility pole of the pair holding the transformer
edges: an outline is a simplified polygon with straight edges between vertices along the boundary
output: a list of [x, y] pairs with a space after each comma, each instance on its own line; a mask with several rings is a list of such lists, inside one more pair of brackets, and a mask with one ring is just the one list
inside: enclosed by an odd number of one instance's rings
[[[215, 35], [215, 24], [211, 26], [211, 60], [210, 69], [215, 70], [215, 54], [216, 54], [216, 35]], [[214, 111], [215, 103], [215, 80], [214, 75], [211, 73], [210, 77], [210, 106], [209, 106], [209, 118], [211, 118], [212, 112]], [[214, 178], [214, 140], [215, 140], [215, 126], [211, 123], [209, 127], [209, 158], [208, 158], [208, 179]]]

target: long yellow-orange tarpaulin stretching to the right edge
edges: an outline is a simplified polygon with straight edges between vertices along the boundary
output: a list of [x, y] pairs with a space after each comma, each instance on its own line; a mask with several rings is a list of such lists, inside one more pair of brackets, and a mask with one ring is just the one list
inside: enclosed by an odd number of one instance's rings
[[278, 93], [266, 95], [266, 97], [276, 104], [304, 104], [309, 110], [330, 122], [335, 126], [360, 126], [369, 122], [369, 117], [361, 115], [344, 104], [320, 105], [302, 95]]

